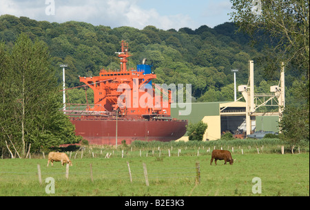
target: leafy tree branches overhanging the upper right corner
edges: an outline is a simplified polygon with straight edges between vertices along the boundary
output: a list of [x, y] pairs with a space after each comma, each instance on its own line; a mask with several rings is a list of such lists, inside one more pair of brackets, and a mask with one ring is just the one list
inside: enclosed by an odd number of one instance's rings
[[231, 17], [239, 31], [249, 34], [254, 42], [266, 38], [262, 35], [269, 35], [273, 53], [278, 55], [276, 62], [291, 62], [309, 78], [309, 1], [231, 0], [231, 3], [236, 10]]

